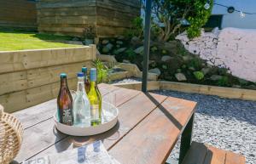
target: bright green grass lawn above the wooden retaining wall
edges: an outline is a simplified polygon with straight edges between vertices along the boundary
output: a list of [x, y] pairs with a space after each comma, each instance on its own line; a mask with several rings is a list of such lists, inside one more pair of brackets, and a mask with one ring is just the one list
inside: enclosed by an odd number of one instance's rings
[[60, 42], [71, 39], [72, 37], [39, 34], [32, 31], [0, 29], [0, 51], [79, 47], [79, 45]]

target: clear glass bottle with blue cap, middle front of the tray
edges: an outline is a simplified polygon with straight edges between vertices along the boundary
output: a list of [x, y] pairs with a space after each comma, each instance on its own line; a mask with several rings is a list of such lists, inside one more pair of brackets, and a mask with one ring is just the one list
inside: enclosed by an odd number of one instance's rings
[[90, 101], [84, 88], [84, 73], [78, 73], [78, 88], [73, 101], [74, 125], [90, 127]]

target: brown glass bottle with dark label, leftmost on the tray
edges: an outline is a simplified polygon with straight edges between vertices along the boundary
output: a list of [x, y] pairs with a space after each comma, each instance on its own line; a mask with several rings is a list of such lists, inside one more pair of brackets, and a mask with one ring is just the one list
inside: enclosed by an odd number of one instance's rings
[[67, 87], [67, 74], [61, 73], [61, 89], [57, 99], [59, 121], [73, 125], [73, 98]]

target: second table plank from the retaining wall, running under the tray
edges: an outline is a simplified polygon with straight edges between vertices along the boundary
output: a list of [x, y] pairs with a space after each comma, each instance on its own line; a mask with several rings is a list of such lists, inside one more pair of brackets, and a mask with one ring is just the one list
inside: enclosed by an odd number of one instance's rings
[[[116, 103], [118, 105], [125, 103], [125, 101], [128, 101], [129, 99], [133, 99], [140, 93], [131, 89], [117, 87], [113, 88], [116, 89], [114, 89], [111, 93], [114, 93], [117, 95], [117, 97], [122, 98], [117, 99]], [[52, 118], [50, 118], [48, 120], [45, 120], [44, 122], [40, 122], [32, 127], [26, 128], [26, 130], [24, 131], [23, 144], [21, 146], [20, 153], [15, 158], [15, 161], [20, 162], [27, 160], [32, 156], [37, 155], [39, 152], [48, 149], [50, 146], [54, 146], [55, 143], [60, 142], [62, 139], [67, 138], [66, 134], [61, 134], [59, 132], [55, 134], [54, 127], [54, 121]], [[58, 136], [59, 134], [61, 135]], [[33, 137], [34, 135], [36, 135], [36, 137]], [[41, 144], [42, 141], [43, 143]]]

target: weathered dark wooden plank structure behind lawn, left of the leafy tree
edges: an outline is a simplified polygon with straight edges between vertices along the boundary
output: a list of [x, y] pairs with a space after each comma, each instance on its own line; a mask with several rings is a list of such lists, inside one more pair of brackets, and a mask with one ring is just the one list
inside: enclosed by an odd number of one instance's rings
[[116, 37], [140, 15], [139, 0], [40, 0], [38, 31], [82, 36], [94, 26], [96, 37]]

